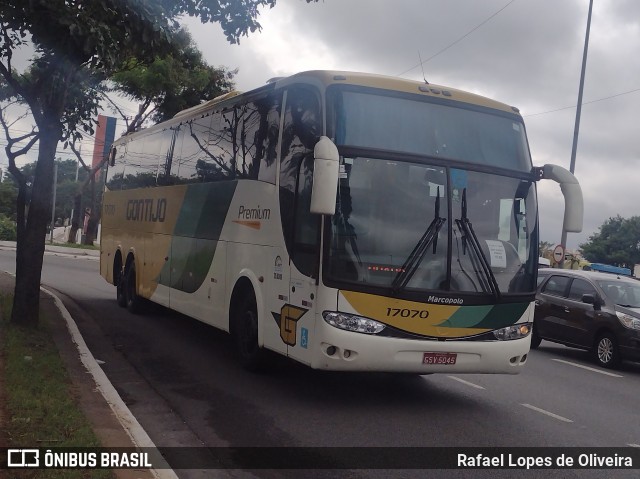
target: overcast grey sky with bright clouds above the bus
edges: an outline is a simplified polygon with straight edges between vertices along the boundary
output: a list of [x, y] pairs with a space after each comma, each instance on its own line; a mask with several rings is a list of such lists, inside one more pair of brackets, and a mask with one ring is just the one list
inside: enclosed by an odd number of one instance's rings
[[[588, 0], [278, 0], [262, 31], [227, 43], [186, 24], [216, 66], [250, 90], [269, 78], [341, 69], [422, 79], [517, 106], [534, 165], [569, 168]], [[575, 175], [585, 202], [576, 248], [609, 217], [640, 215], [640, 2], [594, 0]], [[541, 182], [541, 240], [558, 243], [563, 198]]]

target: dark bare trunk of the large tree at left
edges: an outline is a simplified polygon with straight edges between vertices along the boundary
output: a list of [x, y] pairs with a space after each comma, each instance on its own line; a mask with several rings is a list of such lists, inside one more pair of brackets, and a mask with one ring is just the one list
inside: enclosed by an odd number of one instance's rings
[[31, 202], [16, 250], [16, 286], [11, 321], [32, 327], [38, 325], [39, 319], [40, 279], [47, 222], [51, 217], [55, 153], [60, 138], [59, 127], [55, 124], [52, 121], [39, 125], [40, 144]]

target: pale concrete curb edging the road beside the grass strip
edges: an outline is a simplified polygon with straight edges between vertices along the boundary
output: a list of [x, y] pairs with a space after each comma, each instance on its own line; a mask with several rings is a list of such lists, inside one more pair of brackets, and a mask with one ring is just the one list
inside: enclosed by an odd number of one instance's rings
[[[76, 345], [82, 364], [89, 374], [91, 374], [91, 377], [96, 384], [96, 388], [115, 414], [124, 431], [131, 438], [133, 444], [140, 448], [155, 448], [156, 445], [153, 443], [147, 432], [142, 428], [135, 416], [131, 413], [116, 389], [113, 387], [113, 384], [111, 384], [111, 381], [109, 381], [109, 378], [107, 378], [107, 375], [104, 373], [102, 368], [100, 368], [100, 365], [93, 357], [91, 351], [89, 351], [84, 338], [80, 334], [80, 330], [78, 329], [76, 322], [62, 303], [62, 300], [52, 291], [49, 291], [42, 286], [40, 289], [53, 298], [56, 307], [67, 323], [67, 329], [71, 335], [71, 340]], [[162, 467], [162, 469], [149, 469], [149, 471], [156, 479], [178, 479], [176, 473], [166, 462], [162, 464]]]

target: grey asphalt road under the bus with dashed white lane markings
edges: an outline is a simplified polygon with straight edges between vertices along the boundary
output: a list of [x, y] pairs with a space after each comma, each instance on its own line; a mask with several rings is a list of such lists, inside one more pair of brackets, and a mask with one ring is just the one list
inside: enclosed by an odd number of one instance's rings
[[[13, 271], [14, 253], [0, 251]], [[119, 308], [91, 259], [45, 256], [94, 356], [158, 446], [640, 447], [640, 364], [598, 368], [543, 341], [517, 376], [339, 374], [284, 358], [268, 374], [238, 366], [228, 336], [152, 308]], [[318, 449], [319, 454], [329, 454]], [[390, 452], [393, 454], [393, 451]], [[177, 471], [181, 478], [211, 471]], [[637, 477], [550, 469], [225, 471], [216, 477]]]

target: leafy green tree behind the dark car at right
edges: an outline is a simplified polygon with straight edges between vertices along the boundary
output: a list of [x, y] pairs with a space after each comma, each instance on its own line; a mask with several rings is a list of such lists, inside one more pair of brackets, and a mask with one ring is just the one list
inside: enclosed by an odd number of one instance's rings
[[584, 257], [592, 263], [605, 263], [633, 269], [640, 263], [640, 216], [609, 218], [598, 233], [581, 244]]

